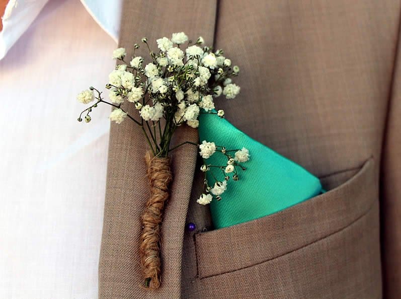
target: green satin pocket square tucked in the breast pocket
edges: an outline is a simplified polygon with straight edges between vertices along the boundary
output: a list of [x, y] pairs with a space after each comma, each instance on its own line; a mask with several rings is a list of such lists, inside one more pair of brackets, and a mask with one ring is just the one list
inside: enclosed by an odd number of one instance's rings
[[[222, 199], [210, 203], [215, 229], [267, 216], [324, 192], [318, 178], [252, 139], [227, 120], [202, 113], [199, 122], [201, 142], [212, 141], [227, 149], [244, 146], [250, 152], [250, 161], [246, 162], [246, 170], [239, 172], [239, 181], [230, 179]], [[226, 162], [223, 155], [212, 155], [207, 160], [212, 165], [225, 165]], [[220, 169], [211, 169], [206, 172], [209, 185], [215, 182], [213, 176], [224, 180]]]

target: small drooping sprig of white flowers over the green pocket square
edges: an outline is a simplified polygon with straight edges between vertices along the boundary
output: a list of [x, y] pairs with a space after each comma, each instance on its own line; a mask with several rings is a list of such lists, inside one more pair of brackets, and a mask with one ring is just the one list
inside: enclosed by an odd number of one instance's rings
[[[206, 184], [206, 192], [202, 194], [197, 202], [199, 204], [208, 204], [212, 201], [213, 196], [216, 197], [217, 200], [221, 199], [221, 194], [227, 190], [227, 181], [230, 179], [229, 174], [233, 173], [232, 179], [234, 181], [238, 181], [239, 177], [237, 174], [237, 168], [245, 170], [245, 167], [240, 165], [240, 163], [245, 163], [250, 160], [249, 151], [247, 148], [243, 147], [241, 150], [235, 150], [234, 157], [232, 157], [229, 152], [223, 146], [217, 146], [214, 142], [207, 142], [203, 140], [201, 144], [199, 144], [199, 155], [204, 159], [204, 164], [201, 166], [202, 172], [211, 171], [211, 167], [215, 170], [222, 171], [224, 180], [216, 181], [213, 187], [210, 187]], [[226, 165], [210, 165], [206, 163], [206, 159], [209, 159], [212, 155], [216, 155], [215, 153], [221, 153], [227, 158]], [[213, 177], [217, 177], [217, 174], [213, 174]]]

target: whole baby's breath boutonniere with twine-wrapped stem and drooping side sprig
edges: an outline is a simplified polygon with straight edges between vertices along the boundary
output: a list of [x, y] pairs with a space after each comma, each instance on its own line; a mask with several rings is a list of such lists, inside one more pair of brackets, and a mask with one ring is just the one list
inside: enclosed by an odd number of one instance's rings
[[[223, 50], [213, 50], [204, 46], [202, 37], [192, 44], [185, 33], [173, 33], [172, 38], [156, 40], [158, 50], [150, 49], [146, 38], [143, 46], [149, 51], [149, 63], [137, 56], [134, 45], [132, 56], [127, 57], [126, 49], [118, 48], [113, 58], [119, 63], [110, 74], [106, 89], [106, 101], [99, 89], [91, 87], [77, 97], [79, 102], [90, 104], [78, 117], [78, 121], [90, 122], [93, 109], [99, 104], [108, 104], [114, 109], [110, 120], [120, 124], [131, 121], [143, 132], [149, 151], [145, 154], [150, 196], [141, 217], [142, 233], [139, 254], [144, 278], [144, 286], [158, 288], [160, 285], [161, 261], [159, 257], [160, 229], [163, 210], [169, 198], [169, 184], [173, 180], [169, 155], [176, 148], [192, 142], [171, 146], [172, 137], [181, 125], [197, 128], [201, 113], [224, 117], [223, 110], [215, 110], [214, 98], [223, 95], [231, 100], [239, 93], [239, 86], [232, 83], [238, 76], [239, 67], [231, 65]], [[134, 105], [136, 113], [129, 114], [127, 106]], [[218, 129], [218, 128], [216, 128]], [[208, 204], [213, 198], [220, 200], [230, 182], [239, 179], [239, 171], [245, 170], [243, 163], [249, 160], [247, 148], [225, 148], [213, 140], [202, 140], [199, 154], [204, 163], [201, 171], [219, 170], [213, 173], [214, 184], [205, 179], [205, 192], [198, 203]], [[211, 165], [212, 155], [223, 155], [224, 165]], [[224, 160], [225, 161], [225, 160]]]

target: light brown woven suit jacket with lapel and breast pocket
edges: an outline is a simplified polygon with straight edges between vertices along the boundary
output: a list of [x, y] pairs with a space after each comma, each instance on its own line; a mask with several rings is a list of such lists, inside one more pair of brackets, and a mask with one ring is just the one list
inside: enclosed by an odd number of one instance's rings
[[[130, 122], [112, 124], [99, 296], [401, 297], [399, 15], [396, 0], [125, 1], [120, 46], [146, 36], [156, 48], [156, 38], [184, 31], [224, 49], [240, 66], [242, 90], [217, 107], [330, 191], [211, 230], [207, 207], [196, 203], [197, 149], [180, 147], [162, 227], [162, 286], [145, 290], [146, 143]], [[182, 126], [174, 142], [197, 139]]]

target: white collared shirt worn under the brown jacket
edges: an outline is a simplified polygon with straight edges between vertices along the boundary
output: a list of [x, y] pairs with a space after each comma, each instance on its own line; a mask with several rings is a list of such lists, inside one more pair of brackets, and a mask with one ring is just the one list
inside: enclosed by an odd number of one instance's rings
[[110, 108], [78, 123], [76, 95], [107, 82], [120, 9], [84, 2], [111, 38], [78, 0], [46, 2], [11, 1], [2, 32], [0, 298], [96, 298]]

